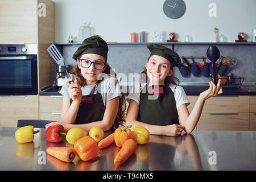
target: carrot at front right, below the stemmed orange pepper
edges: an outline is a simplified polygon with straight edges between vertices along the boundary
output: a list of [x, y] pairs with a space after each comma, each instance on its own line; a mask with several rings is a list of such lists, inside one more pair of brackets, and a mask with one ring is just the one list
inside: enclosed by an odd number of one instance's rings
[[122, 164], [135, 152], [137, 143], [134, 139], [128, 139], [123, 143], [121, 150], [115, 156], [114, 164]]

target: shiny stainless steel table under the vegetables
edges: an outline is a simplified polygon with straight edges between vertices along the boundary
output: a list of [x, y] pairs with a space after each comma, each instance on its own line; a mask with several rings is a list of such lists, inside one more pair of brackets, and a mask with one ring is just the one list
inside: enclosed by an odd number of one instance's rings
[[[88, 162], [76, 158], [61, 162], [46, 154], [49, 146], [70, 146], [67, 141], [49, 143], [45, 129], [31, 143], [18, 143], [18, 128], [0, 128], [0, 170], [256, 170], [256, 131], [193, 131], [179, 137], [150, 135], [150, 142], [121, 166], [114, 166], [119, 148], [100, 150]], [[110, 132], [105, 133], [109, 135]]]

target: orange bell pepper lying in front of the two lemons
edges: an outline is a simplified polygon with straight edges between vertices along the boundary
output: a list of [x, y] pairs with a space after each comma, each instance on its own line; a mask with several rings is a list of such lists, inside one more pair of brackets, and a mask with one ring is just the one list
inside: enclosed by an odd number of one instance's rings
[[100, 150], [96, 140], [90, 136], [85, 136], [77, 140], [74, 144], [74, 149], [79, 158], [84, 161], [94, 158]]

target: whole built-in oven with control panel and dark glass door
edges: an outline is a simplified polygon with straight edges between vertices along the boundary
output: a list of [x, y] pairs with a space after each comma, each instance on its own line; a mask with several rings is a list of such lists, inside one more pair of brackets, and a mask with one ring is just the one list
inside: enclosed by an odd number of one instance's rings
[[0, 95], [37, 95], [36, 44], [0, 44]]

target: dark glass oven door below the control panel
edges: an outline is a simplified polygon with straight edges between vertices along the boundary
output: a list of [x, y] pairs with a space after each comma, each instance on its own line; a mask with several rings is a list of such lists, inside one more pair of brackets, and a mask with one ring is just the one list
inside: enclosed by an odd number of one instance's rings
[[0, 95], [38, 94], [37, 55], [0, 56]]

